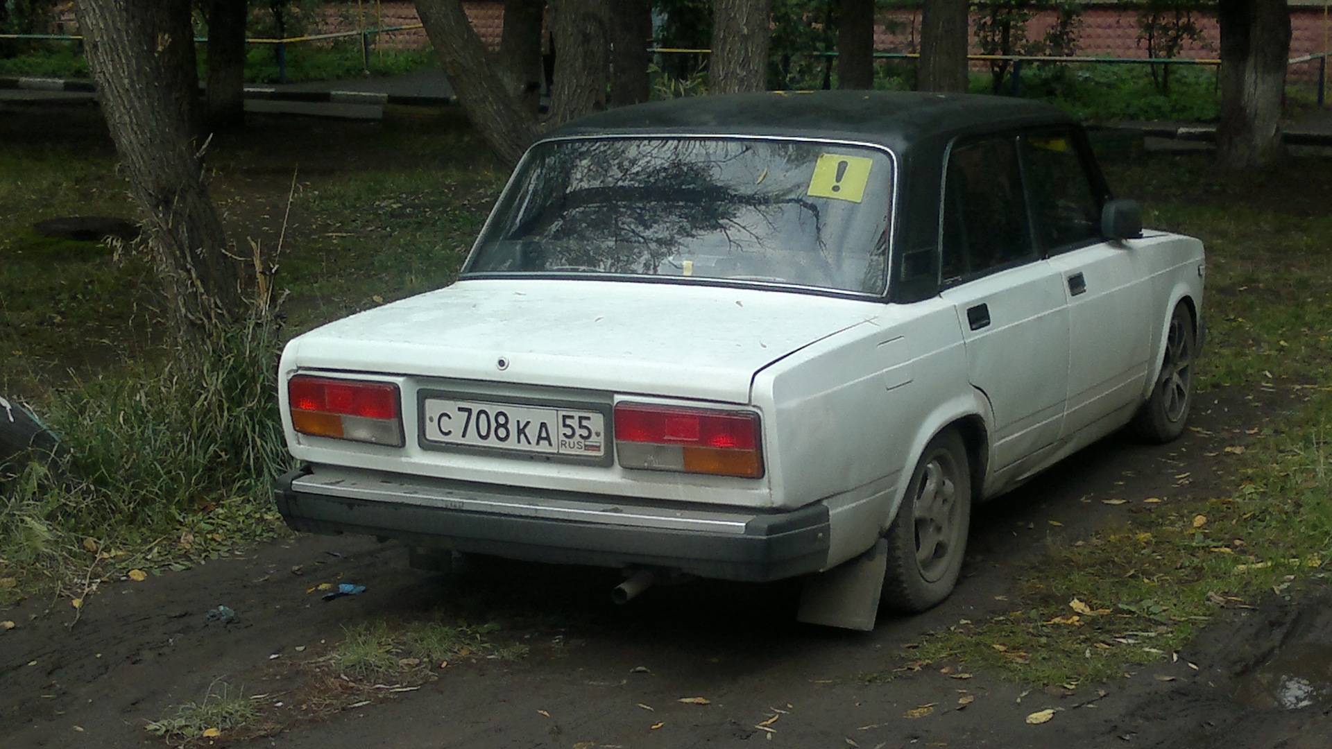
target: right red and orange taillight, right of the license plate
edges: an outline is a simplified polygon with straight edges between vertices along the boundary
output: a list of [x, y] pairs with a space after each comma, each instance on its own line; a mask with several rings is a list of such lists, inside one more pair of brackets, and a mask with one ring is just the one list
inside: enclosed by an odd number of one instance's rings
[[763, 476], [758, 414], [750, 410], [615, 405], [615, 454], [625, 468]]

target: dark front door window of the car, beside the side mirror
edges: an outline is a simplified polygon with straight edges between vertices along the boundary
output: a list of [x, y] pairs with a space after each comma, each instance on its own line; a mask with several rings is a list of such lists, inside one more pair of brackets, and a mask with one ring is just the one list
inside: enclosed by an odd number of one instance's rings
[[1055, 255], [1100, 241], [1102, 196], [1067, 132], [1020, 139], [1042, 249]]

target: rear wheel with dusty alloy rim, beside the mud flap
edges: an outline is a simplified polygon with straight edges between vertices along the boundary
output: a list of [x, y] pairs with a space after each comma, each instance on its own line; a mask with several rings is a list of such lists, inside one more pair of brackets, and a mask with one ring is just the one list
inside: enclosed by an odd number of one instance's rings
[[923, 612], [952, 593], [971, 525], [971, 465], [955, 429], [930, 440], [888, 526], [883, 605]]

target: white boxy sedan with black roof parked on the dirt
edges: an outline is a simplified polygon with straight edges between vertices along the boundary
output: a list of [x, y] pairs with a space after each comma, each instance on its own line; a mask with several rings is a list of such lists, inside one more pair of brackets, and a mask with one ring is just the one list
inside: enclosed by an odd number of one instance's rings
[[522, 159], [456, 284], [294, 339], [297, 530], [662, 576], [806, 576], [868, 629], [954, 588], [971, 506], [1188, 416], [1203, 247], [1143, 232], [1032, 101], [706, 96]]

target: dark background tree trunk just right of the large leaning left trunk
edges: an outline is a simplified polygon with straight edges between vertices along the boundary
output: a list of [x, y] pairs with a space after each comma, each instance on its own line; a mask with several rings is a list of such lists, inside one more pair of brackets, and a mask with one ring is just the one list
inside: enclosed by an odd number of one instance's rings
[[208, 88], [204, 120], [212, 129], [245, 125], [245, 20], [246, 0], [208, 3]]

